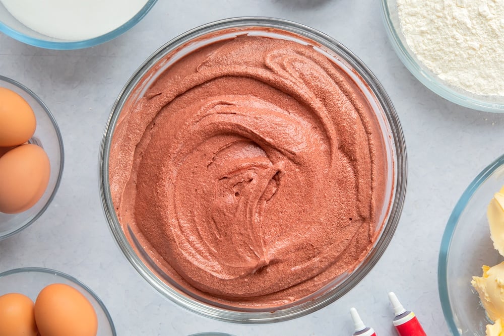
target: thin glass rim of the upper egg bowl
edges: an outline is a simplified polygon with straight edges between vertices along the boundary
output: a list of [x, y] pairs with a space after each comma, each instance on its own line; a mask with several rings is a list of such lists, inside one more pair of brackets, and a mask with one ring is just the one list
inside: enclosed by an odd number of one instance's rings
[[61, 183], [61, 178], [63, 176], [63, 168], [65, 166], [65, 150], [64, 150], [64, 145], [63, 145], [63, 138], [61, 136], [61, 132], [59, 131], [59, 127], [58, 127], [58, 124], [56, 122], [56, 119], [54, 119], [54, 116], [52, 115], [52, 113], [49, 110], [49, 108], [47, 107], [47, 105], [45, 105], [45, 103], [33, 91], [31, 91], [30, 89], [28, 89], [23, 84], [15, 81], [13, 79], [10, 79], [8, 77], [0, 75], [0, 83], [2, 81], [6, 82], [6, 83], [9, 83], [9, 84], [12, 84], [14, 86], [17, 86], [19, 89], [23, 90], [24, 92], [26, 92], [27, 94], [29, 94], [33, 99], [35, 99], [35, 101], [37, 102], [37, 104], [39, 104], [42, 107], [42, 109], [44, 110], [44, 112], [49, 117], [49, 120], [51, 121], [52, 126], [54, 127], [54, 131], [56, 133], [56, 137], [57, 137], [57, 141], [58, 141], [58, 145], [59, 145], [58, 147], [59, 147], [59, 157], [60, 157], [60, 160], [59, 160], [59, 167], [58, 167], [58, 176], [56, 177], [56, 183], [54, 184], [54, 189], [52, 190], [51, 195], [47, 199], [47, 201], [44, 204], [44, 206], [42, 207], [42, 209], [40, 209], [40, 211], [35, 215], [35, 217], [33, 217], [28, 223], [26, 223], [22, 227], [14, 230], [14, 231], [11, 231], [11, 232], [9, 232], [7, 234], [0, 235], [0, 240], [9, 238], [9, 237], [14, 236], [15, 234], [21, 232], [22, 230], [24, 230], [27, 227], [29, 227], [30, 225], [32, 225], [40, 216], [42, 216], [42, 214], [47, 210], [47, 208], [49, 207], [49, 205], [52, 202], [52, 199], [56, 195], [56, 192], [57, 192], [57, 190], [59, 188], [59, 184]]

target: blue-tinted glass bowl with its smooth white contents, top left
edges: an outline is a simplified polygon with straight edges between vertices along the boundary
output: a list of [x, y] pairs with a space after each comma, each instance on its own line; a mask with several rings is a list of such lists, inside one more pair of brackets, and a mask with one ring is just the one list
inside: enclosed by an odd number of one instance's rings
[[135, 26], [157, 0], [0, 0], [0, 32], [46, 49], [81, 49]]

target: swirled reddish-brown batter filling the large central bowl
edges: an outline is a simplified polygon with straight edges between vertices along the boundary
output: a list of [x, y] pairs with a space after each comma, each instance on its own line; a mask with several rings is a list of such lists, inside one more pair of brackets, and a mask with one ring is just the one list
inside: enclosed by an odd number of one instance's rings
[[351, 78], [311, 46], [239, 36], [171, 65], [123, 111], [113, 202], [190, 292], [277, 306], [351, 271], [382, 224], [384, 140]]

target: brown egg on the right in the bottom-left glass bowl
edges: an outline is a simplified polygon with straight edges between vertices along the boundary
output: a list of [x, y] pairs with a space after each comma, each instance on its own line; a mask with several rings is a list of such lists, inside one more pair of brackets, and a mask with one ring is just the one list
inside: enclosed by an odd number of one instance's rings
[[65, 284], [45, 287], [35, 301], [35, 321], [42, 336], [96, 336], [98, 318], [91, 303]]

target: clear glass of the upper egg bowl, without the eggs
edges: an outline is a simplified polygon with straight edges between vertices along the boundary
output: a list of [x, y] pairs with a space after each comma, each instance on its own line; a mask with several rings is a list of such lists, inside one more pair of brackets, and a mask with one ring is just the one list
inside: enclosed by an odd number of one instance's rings
[[63, 140], [49, 108], [24, 85], [0, 76], [0, 87], [18, 93], [30, 104], [37, 119], [37, 128], [29, 143], [42, 147], [51, 167], [49, 184], [42, 197], [30, 209], [14, 215], [0, 213], [0, 240], [10, 237], [35, 222], [51, 203], [61, 181], [64, 164]]

